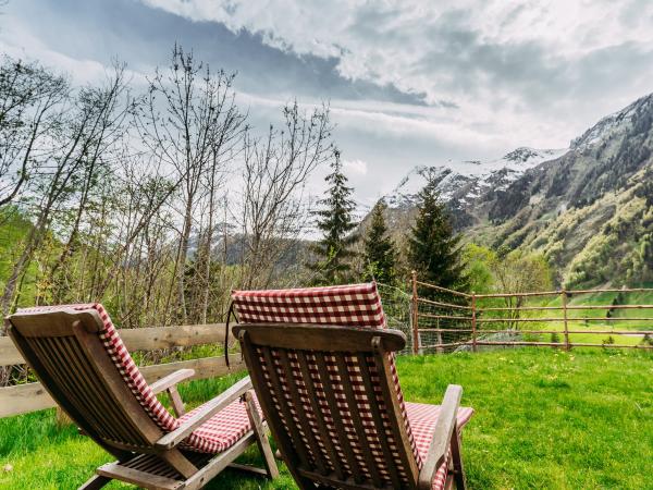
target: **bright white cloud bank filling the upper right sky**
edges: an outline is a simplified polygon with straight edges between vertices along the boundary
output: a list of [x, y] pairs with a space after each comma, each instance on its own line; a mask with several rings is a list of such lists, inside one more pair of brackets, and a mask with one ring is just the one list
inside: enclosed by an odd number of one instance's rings
[[[650, 1], [141, 1], [259, 34], [297, 56], [336, 59], [346, 78], [423, 94], [435, 107], [452, 101], [458, 111], [414, 108], [421, 113], [405, 119], [406, 131], [440, 137], [559, 147], [653, 90]], [[616, 79], [621, 70], [637, 73]], [[396, 115], [379, 105], [373, 112]]]

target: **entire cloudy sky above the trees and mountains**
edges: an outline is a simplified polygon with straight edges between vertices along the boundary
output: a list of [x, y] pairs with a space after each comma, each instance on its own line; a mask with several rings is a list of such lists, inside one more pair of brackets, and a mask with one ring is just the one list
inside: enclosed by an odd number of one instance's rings
[[329, 100], [356, 197], [414, 166], [564, 148], [653, 91], [650, 0], [10, 0], [0, 50], [79, 83], [118, 58], [135, 79], [181, 42], [237, 71], [264, 127]]

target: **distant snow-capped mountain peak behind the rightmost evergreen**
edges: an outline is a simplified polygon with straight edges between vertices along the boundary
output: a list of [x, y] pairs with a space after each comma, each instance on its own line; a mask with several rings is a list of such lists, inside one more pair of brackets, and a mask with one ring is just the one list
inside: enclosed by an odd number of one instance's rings
[[521, 147], [496, 160], [449, 161], [435, 167], [418, 166], [385, 196], [385, 203], [390, 208], [410, 208], [415, 205], [419, 191], [428, 182], [435, 181], [443, 200], [469, 204], [489, 189], [506, 188], [527, 170], [554, 160], [567, 151], [568, 149]]

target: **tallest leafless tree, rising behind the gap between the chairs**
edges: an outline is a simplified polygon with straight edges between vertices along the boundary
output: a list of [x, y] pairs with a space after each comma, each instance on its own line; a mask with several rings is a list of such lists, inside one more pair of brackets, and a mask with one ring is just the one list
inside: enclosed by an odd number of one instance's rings
[[[137, 126], [148, 150], [169, 164], [181, 180], [176, 278], [178, 317], [186, 321], [186, 268], [197, 206], [207, 192], [215, 194], [213, 176], [231, 158], [246, 126], [232, 88], [235, 75], [212, 73], [178, 46], [172, 63], [150, 82]], [[213, 208], [211, 207], [210, 210]], [[209, 240], [209, 246], [211, 241]]]

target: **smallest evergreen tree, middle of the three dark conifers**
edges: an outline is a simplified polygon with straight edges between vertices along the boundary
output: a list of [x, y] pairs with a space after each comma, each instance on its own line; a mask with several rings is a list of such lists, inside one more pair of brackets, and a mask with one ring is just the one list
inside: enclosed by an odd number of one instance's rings
[[364, 266], [365, 281], [377, 280], [384, 284], [395, 281], [395, 262], [397, 252], [392, 238], [387, 235], [387, 226], [383, 211], [386, 206], [381, 199], [372, 209], [370, 228], [365, 237]]

